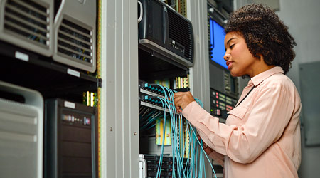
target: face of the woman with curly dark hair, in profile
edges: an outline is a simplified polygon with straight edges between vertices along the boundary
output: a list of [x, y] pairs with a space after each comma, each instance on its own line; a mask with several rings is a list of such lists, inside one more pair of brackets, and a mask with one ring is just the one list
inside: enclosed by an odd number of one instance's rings
[[240, 33], [229, 32], [225, 35], [225, 59], [231, 75], [238, 77], [242, 75], [257, 75], [256, 70], [259, 68], [260, 60], [252, 56], [245, 38]]

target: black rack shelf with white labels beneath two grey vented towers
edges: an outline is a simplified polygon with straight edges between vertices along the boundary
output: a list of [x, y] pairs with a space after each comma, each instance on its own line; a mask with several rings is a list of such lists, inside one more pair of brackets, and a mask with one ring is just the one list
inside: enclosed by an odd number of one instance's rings
[[82, 103], [84, 91], [97, 91], [102, 80], [0, 41], [0, 80], [38, 90], [44, 98], [63, 97]]

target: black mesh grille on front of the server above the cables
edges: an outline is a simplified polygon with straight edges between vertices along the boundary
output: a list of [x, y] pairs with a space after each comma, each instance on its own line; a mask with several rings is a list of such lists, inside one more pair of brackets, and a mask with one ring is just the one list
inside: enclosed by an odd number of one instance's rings
[[193, 61], [193, 32], [191, 23], [168, 9], [169, 38], [184, 46], [184, 57]]

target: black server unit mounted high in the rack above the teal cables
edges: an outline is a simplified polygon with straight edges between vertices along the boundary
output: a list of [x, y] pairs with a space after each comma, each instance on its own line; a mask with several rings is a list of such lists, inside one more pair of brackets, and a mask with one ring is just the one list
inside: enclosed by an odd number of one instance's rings
[[169, 58], [169, 63], [193, 66], [193, 27], [190, 20], [159, 0], [139, 0], [139, 48]]

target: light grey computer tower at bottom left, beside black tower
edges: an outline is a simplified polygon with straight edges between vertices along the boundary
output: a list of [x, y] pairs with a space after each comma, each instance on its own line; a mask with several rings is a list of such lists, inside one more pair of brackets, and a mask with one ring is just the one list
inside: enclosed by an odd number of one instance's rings
[[0, 122], [0, 177], [41, 178], [42, 95], [35, 90], [0, 81]]

